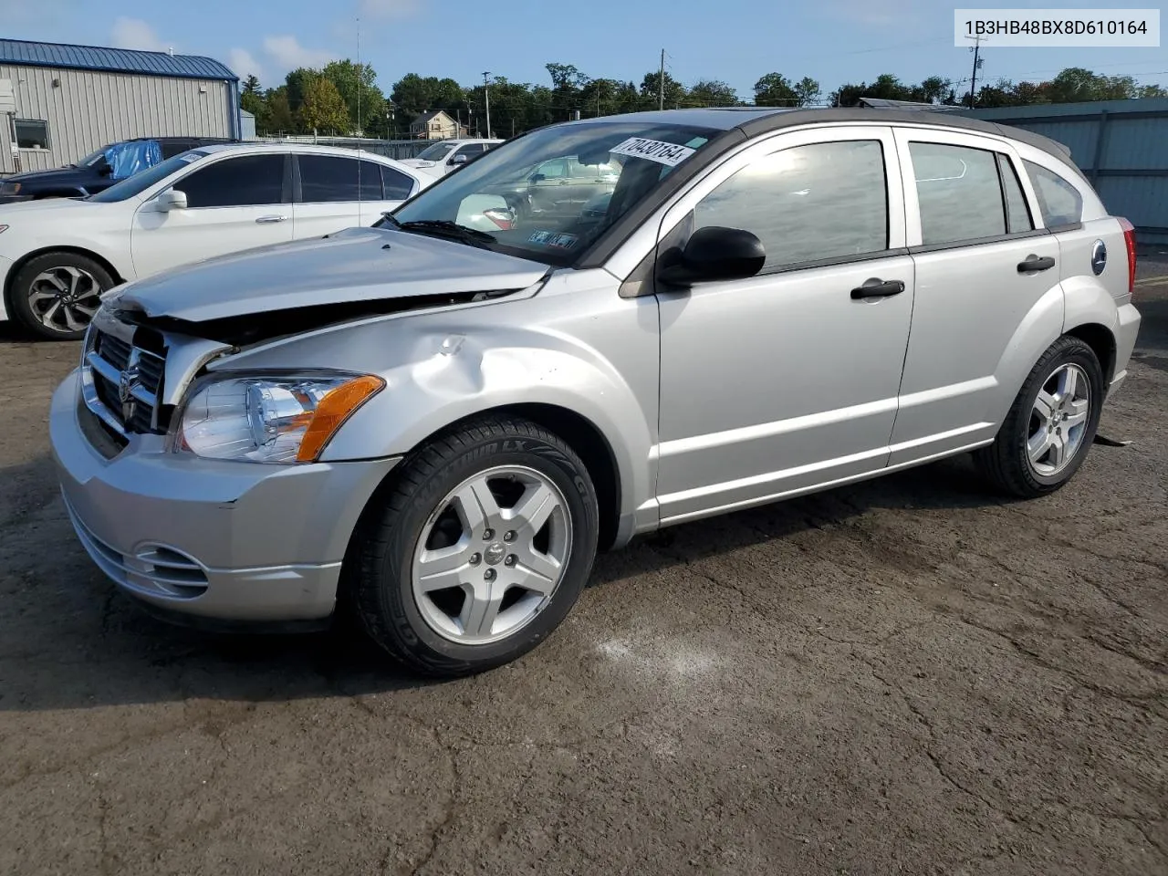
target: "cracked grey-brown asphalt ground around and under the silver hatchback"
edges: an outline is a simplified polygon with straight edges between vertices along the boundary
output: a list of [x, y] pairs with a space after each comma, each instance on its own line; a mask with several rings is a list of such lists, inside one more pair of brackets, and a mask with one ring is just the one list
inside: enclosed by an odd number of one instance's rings
[[76, 345], [0, 327], [0, 874], [1168, 874], [1168, 263], [1098, 445], [665, 530], [515, 665], [214, 637], [57, 496]]

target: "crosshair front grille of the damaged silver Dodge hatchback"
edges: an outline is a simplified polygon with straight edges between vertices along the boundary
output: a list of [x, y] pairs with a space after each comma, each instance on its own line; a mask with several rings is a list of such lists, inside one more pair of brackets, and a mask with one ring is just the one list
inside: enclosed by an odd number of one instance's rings
[[164, 359], [95, 328], [82, 366], [85, 406], [125, 436], [157, 431]]

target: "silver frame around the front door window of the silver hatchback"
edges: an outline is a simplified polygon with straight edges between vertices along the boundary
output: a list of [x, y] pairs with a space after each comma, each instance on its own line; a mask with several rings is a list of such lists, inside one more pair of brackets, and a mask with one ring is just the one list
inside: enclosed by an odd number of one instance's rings
[[[791, 265], [779, 265], [769, 269], [766, 276], [772, 273], [790, 273], [792, 271], [814, 270], [834, 264], [848, 264], [851, 262], [868, 262], [877, 258], [889, 258], [905, 255], [906, 248], [906, 222], [904, 185], [902, 181], [901, 162], [897, 160], [898, 144], [894, 139], [894, 128], [889, 125], [841, 125], [839, 127], [807, 128], [802, 131], [783, 131], [774, 135], [763, 138], [757, 142], [749, 144], [745, 148], [731, 153], [729, 157], [708, 169], [698, 176], [683, 192], [677, 194], [673, 201], [663, 208], [661, 223], [656, 236], [656, 245], [652, 252], [656, 253], [673, 236], [673, 232], [683, 222], [688, 222], [697, 203], [710, 194], [723, 182], [734, 176], [738, 171], [746, 167], [752, 161], [771, 155], [776, 152], [794, 148], [797, 146], [812, 146], [828, 142], [849, 142], [855, 140], [876, 140], [881, 145], [884, 157], [884, 181], [885, 181], [885, 209], [888, 211], [888, 248], [874, 253], [862, 256], [843, 256], [840, 258], [816, 259], [801, 262]], [[653, 220], [649, 221], [649, 224]], [[655, 256], [654, 256], [655, 258]], [[762, 274], [760, 274], [762, 276]], [[652, 284], [644, 284], [652, 286]], [[642, 291], [640, 294], [645, 294]]]

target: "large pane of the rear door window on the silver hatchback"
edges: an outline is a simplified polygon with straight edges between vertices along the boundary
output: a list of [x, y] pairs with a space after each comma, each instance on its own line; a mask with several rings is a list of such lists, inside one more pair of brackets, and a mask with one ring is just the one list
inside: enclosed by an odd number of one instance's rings
[[1001, 237], [1006, 208], [995, 153], [966, 146], [910, 142], [909, 154], [926, 245]]

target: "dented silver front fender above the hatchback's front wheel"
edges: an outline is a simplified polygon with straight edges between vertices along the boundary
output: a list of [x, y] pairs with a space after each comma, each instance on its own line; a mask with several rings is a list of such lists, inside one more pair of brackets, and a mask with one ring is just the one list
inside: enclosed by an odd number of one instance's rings
[[605, 438], [620, 481], [621, 516], [652, 499], [656, 300], [621, 299], [614, 283], [394, 314], [227, 357], [213, 370], [288, 367], [345, 368], [385, 380], [322, 461], [401, 456], [464, 418], [545, 404], [585, 418]]

